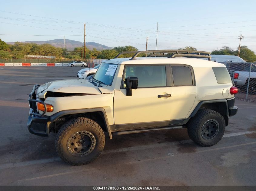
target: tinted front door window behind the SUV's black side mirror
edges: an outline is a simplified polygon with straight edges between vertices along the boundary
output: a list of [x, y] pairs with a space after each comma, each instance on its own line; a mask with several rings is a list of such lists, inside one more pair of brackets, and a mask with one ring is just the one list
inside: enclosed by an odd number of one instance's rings
[[128, 76], [138, 78], [138, 87], [166, 86], [165, 66], [127, 66], [125, 84]]

